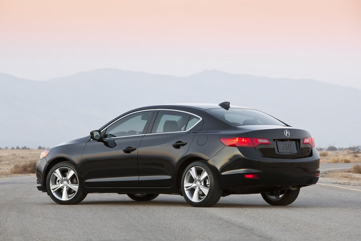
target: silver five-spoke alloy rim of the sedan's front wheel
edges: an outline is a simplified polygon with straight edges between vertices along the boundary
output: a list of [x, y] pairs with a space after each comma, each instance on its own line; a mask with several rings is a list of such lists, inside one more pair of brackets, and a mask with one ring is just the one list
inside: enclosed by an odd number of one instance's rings
[[72, 199], [77, 193], [79, 179], [71, 168], [59, 167], [51, 174], [49, 186], [57, 199], [67, 201]]

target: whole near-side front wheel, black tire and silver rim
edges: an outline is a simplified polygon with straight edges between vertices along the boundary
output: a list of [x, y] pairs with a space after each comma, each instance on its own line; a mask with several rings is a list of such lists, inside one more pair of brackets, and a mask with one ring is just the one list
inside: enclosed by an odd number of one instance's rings
[[77, 204], [86, 197], [79, 175], [69, 162], [60, 162], [52, 167], [47, 175], [48, 195], [59, 204]]

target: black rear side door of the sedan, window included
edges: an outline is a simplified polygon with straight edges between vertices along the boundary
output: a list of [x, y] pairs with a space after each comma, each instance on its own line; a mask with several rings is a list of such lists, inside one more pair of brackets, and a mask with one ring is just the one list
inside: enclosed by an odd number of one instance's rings
[[158, 111], [151, 132], [139, 146], [140, 187], [171, 187], [174, 166], [189, 150], [197, 133], [193, 127], [201, 119], [185, 111]]

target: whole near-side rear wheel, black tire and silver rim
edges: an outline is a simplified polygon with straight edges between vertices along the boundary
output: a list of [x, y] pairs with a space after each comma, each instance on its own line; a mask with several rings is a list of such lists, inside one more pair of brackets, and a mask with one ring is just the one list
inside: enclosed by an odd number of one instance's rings
[[222, 196], [217, 176], [204, 162], [188, 165], [180, 183], [183, 197], [194, 207], [211, 207]]

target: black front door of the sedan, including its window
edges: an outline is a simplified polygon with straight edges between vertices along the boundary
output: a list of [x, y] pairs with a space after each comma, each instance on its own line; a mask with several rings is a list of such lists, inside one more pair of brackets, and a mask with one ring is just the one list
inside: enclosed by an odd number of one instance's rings
[[102, 141], [90, 140], [81, 169], [86, 187], [138, 187], [138, 147], [154, 111], [137, 111], [102, 131]]

